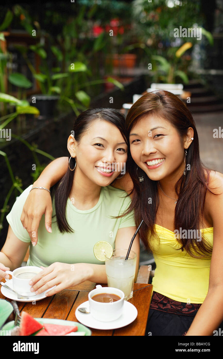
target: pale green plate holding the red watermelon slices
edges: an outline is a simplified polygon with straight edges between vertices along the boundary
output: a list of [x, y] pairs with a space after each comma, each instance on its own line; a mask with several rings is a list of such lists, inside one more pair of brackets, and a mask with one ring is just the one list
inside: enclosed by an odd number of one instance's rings
[[[7, 317], [8, 318], [8, 317]], [[6, 318], [6, 319], [7, 319]], [[44, 323], [50, 323], [50, 324], [58, 324], [58, 325], [73, 325], [73, 326], [77, 326], [77, 331], [78, 332], [85, 332], [85, 336], [90, 336], [91, 335], [91, 330], [87, 327], [85, 327], [85, 325], [78, 323], [78, 322], [71, 322], [69, 320], [62, 320], [62, 319], [53, 319], [53, 318], [34, 318], [35, 320], [37, 320], [39, 323], [43, 324]], [[6, 323], [1, 330], [12, 330], [14, 328], [14, 320], [11, 322]], [[4, 335], [4, 333], [3, 333]], [[32, 335], [31, 335], [32, 336]]]

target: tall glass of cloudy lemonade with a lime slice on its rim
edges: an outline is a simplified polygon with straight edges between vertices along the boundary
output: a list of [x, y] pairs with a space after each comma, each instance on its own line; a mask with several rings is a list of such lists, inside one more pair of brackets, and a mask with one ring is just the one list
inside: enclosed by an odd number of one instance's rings
[[105, 269], [108, 278], [108, 286], [118, 288], [125, 294], [125, 300], [133, 296], [133, 284], [136, 273], [136, 253], [130, 251], [127, 261], [127, 249], [115, 249], [113, 255], [107, 258], [105, 255]]

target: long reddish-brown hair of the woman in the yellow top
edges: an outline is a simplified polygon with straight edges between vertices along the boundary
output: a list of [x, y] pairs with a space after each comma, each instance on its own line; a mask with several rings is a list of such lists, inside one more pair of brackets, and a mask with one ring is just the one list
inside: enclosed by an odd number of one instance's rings
[[[190, 144], [186, 156], [186, 163], [190, 164], [191, 170], [186, 171], [186, 176], [182, 174], [175, 185], [175, 191], [179, 197], [175, 208], [174, 228], [179, 231], [180, 227], [182, 229], [199, 230], [200, 221], [203, 223], [205, 195], [207, 190], [210, 190], [208, 187], [210, 170], [200, 160], [198, 133], [193, 117], [185, 104], [176, 95], [168, 91], [158, 90], [143, 95], [129, 109], [126, 117], [128, 134], [130, 134], [133, 126], [145, 114], [160, 116], [171, 122], [181, 137], [187, 133], [188, 127], [192, 127], [194, 130], [194, 140]], [[154, 229], [159, 205], [157, 181], [152, 181], [141, 168], [138, 168], [137, 176], [137, 164], [133, 161], [131, 154], [128, 157], [128, 161], [128, 171], [134, 188], [131, 192], [132, 202], [125, 215], [134, 209], [137, 227], [141, 220], [144, 219], [139, 236], [144, 246], [149, 251], [152, 251], [150, 239], [152, 236], [158, 238]], [[143, 182], [139, 182], [139, 176], [144, 177]], [[149, 198], [152, 199], [152, 203], [148, 205]], [[199, 236], [201, 236], [200, 242], [197, 242], [196, 239], [192, 241], [191, 239], [176, 239], [181, 244], [180, 249], [182, 251], [185, 249], [192, 257], [210, 257], [212, 247], [205, 240], [202, 233], [199, 232]]]

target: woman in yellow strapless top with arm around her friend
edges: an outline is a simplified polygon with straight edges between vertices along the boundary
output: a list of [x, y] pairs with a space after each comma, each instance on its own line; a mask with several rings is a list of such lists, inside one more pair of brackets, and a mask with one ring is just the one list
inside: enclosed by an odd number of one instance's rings
[[[146, 335], [213, 335], [223, 327], [223, 175], [201, 163], [193, 117], [172, 93], [143, 95], [126, 125], [130, 176], [116, 186], [131, 192], [129, 212], [134, 209], [137, 226], [144, 219], [139, 235], [156, 261]], [[48, 167], [39, 186], [53, 185], [66, 172], [67, 159]], [[35, 195], [21, 216], [33, 230], [38, 218], [27, 208], [34, 212]], [[49, 199], [38, 208], [46, 228], [50, 208]]]

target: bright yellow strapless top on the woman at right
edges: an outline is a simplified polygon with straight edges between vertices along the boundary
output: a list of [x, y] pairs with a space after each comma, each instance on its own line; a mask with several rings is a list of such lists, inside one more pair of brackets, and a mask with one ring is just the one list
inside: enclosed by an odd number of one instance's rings
[[[151, 237], [156, 262], [153, 290], [177, 302], [203, 303], [208, 293], [211, 258], [193, 258], [179, 250], [181, 246], [174, 232], [158, 224], [155, 230], [160, 244]], [[213, 227], [204, 228], [202, 232], [213, 247]]]

